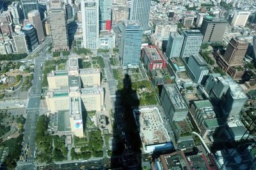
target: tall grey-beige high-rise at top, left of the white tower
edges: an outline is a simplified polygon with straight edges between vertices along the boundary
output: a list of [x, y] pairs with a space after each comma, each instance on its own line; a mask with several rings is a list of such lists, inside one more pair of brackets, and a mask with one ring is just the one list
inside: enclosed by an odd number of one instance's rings
[[68, 29], [65, 6], [61, 0], [50, 0], [49, 21], [54, 51], [68, 51]]

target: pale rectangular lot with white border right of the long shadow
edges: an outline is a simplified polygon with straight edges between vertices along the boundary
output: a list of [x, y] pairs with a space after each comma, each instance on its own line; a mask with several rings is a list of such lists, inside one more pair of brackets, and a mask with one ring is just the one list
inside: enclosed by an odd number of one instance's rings
[[172, 143], [164, 128], [163, 120], [157, 108], [142, 108], [133, 111], [144, 153], [171, 150]]

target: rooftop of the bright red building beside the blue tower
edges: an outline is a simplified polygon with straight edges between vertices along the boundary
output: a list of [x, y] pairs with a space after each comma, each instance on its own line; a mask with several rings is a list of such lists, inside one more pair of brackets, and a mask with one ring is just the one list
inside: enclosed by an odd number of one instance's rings
[[143, 49], [147, 53], [147, 57], [150, 60], [150, 62], [154, 60], [163, 60], [161, 52], [159, 48], [157, 48], [157, 46], [148, 45], [148, 46], [144, 46]]

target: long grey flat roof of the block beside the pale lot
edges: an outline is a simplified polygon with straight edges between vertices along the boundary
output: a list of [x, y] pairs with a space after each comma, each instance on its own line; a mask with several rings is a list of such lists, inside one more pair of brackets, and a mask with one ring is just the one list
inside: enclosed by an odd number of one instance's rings
[[164, 85], [164, 87], [168, 92], [168, 95], [170, 96], [170, 99], [175, 110], [188, 109], [188, 106], [186, 105], [184, 99], [180, 94], [178, 87], [175, 84], [166, 84]]

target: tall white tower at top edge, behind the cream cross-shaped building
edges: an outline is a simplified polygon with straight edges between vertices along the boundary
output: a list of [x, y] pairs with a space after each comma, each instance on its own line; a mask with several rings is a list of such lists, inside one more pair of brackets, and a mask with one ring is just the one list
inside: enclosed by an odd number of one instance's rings
[[83, 46], [97, 50], [99, 39], [99, 0], [81, 1]]

